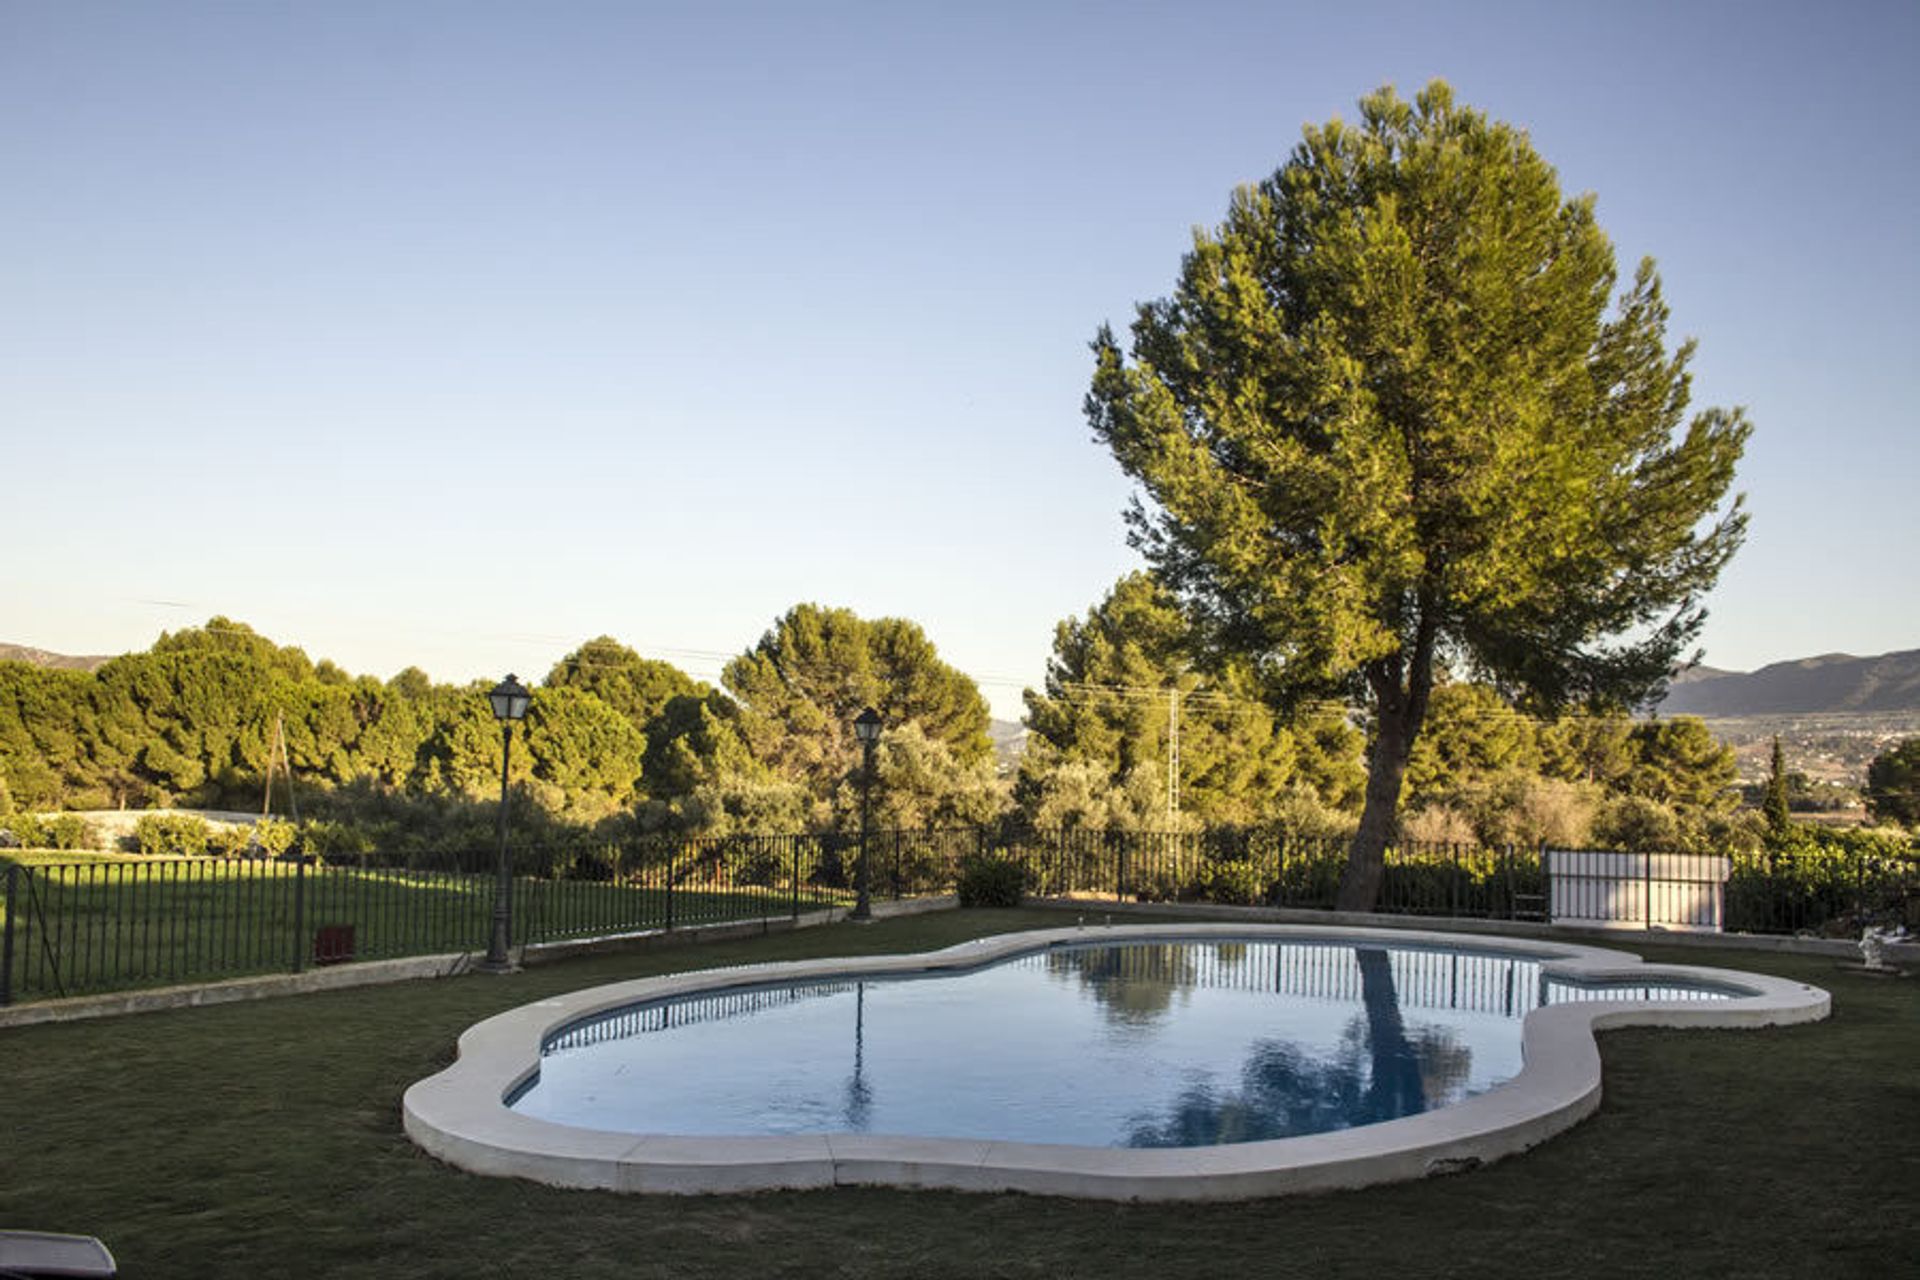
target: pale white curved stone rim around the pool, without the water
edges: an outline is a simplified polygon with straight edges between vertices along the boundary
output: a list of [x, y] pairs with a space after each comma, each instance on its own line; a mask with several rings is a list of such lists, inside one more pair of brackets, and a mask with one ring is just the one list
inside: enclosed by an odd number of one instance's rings
[[[1035, 1142], [795, 1134], [778, 1138], [620, 1134], [511, 1111], [505, 1100], [540, 1071], [561, 1027], [666, 996], [766, 983], [968, 969], [1023, 952], [1087, 942], [1315, 940], [1467, 948], [1542, 960], [1586, 983], [1713, 983], [1751, 992], [1726, 1002], [1571, 1002], [1526, 1015], [1524, 1065], [1476, 1098], [1380, 1125], [1208, 1148], [1083, 1148]], [[1630, 952], [1536, 938], [1315, 925], [1114, 925], [1041, 929], [918, 956], [866, 956], [703, 969], [612, 983], [509, 1009], [459, 1040], [459, 1059], [407, 1090], [407, 1134], [470, 1173], [614, 1192], [726, 1194], [826, 1186], [1031, 1192], [1085, 1199], [1254, 1199], [1405, 1182], [1524, 1151], [1599, 1107], [1596, 1031], [1611, 1027], [1778, 1027], [1828, 1015], [1818, 986], [1759, 973], [1647, 965]], [[1678, 1088], [1678, 1080], [1674, 1082]]]

